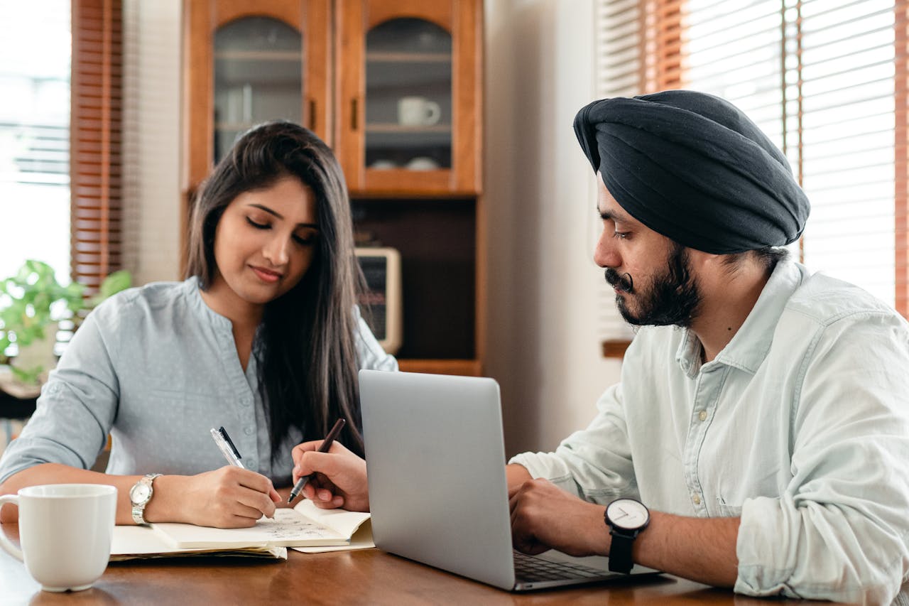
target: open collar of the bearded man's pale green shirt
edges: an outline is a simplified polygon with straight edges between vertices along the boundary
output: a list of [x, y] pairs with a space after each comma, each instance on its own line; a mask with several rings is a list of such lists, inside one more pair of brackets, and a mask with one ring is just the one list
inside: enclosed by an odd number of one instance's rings
[[[788, 259], [778, 262], [742, 327], [708, 365], [715, 362], [756, 372], [774, 342], [774, 328], [789, 298], [806, 276], [807, 269], [803, 265]], [[685, 374], [694, 376], [701, 368], [701, 350], [701, 341], [684, 328], [675, 360]]]

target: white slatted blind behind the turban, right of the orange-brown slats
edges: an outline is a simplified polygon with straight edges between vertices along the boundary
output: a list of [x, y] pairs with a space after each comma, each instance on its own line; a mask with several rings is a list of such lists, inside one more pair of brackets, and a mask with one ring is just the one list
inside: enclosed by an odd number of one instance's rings
[[905, 298], [896, 299], [905, 283], [896, 213], [905, 202], [895, 179], [895, 25], [904, 2], [759, 0], [724, 2], [721, 12], [715, 0], [690, 0], [686, 10], [686, 86], [752, 116], [811, 200], [804, 263], [905, 314]]

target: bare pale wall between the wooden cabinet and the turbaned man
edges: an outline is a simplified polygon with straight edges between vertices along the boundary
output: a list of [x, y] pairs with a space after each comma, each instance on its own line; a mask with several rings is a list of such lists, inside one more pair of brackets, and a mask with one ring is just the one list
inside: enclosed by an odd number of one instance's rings
[[506, 450], [554, 449], [619, 365], [600, 354], [594, 177], [572, 129], [594, 98], [593, 0], [487, 0], [487, 363]]

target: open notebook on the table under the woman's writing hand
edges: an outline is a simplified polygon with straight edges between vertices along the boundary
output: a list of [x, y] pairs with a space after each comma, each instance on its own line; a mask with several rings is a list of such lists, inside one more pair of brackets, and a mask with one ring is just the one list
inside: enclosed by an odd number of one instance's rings
[[[219, 529], [193, 524], [157, 523], [148, 527], [117, 526], [112, 560], [155, 555], [250, 555], [286, 558], [286, 547], [348, 548], [368, 513], [320, 510], [310, 500], [275, 510], [251, 528]], [[231, 553], [227, 553], [231, 551]]]

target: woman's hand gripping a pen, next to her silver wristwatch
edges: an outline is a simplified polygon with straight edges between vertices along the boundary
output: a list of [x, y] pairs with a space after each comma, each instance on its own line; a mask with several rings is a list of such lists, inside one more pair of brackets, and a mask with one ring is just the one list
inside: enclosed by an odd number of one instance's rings
[[[155, 499], [159, 493], [161, 499]], [[262, 516], [274, 517], [275, 503], [280, 500], [272, 480], [255, 471], [226, 465], [195, 476], [155, 479], [155, 495], [145, 508], [145, 520], [248, 528]]]

